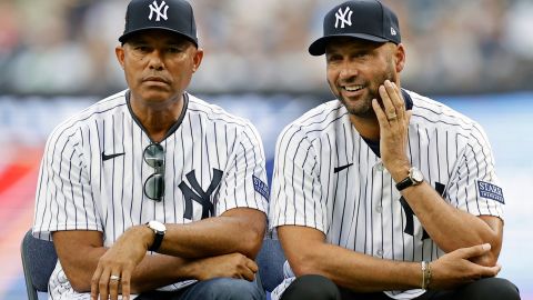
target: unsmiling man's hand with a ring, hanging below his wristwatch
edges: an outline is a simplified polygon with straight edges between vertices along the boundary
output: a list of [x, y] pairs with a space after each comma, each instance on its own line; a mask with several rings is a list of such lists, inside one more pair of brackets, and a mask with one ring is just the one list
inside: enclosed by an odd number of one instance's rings
[[149, 234], [148, 227], [132, 227], [100, 258], [91, 279], [92, 300], [115, 300], [120, 290], [122, 299], [130, 299], [131, 273], [147, 254]]

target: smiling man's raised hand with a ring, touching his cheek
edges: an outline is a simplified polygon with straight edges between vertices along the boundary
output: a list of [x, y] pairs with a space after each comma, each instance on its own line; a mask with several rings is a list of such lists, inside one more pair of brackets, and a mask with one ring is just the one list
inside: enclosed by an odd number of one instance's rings
[[381, 159], [391, 173], [403, 171], [405, 176], [410, 167], [406, 149], [412, 112], [405, 111], [402, 93], [393, 82], [385, 80], [379, 91], [383, 108], [376, 99], [372, 100], [372, 107], [380, 123]]

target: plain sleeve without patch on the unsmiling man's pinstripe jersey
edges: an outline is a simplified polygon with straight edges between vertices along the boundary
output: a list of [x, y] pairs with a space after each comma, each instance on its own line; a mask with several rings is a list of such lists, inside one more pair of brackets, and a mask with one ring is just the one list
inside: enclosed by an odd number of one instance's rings
[[102, 231], [93, 201], [80, 131], [58, 128], [48, 139], [41, 161], [33, 236], [51, 240], [61, 230]]

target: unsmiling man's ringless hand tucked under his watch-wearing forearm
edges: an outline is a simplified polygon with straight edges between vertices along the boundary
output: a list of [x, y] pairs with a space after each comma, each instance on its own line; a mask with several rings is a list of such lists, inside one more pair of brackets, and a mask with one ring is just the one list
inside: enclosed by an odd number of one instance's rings
[[193, 278], [209, 280], [218, 277], [253, 281], [258, 264], [241, 253], [230, 253], [191, 262]]

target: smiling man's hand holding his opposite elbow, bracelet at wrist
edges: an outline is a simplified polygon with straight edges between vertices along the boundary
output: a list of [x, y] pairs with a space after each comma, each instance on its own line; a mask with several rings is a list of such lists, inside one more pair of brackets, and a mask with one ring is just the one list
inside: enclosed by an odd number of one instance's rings
[[502, 267], [484, 267], [470, 260], [491, 251], [491, 244], [461, 248], [431, 262], [432, 290], [446, 290], [485, 277], [495, 277]]

